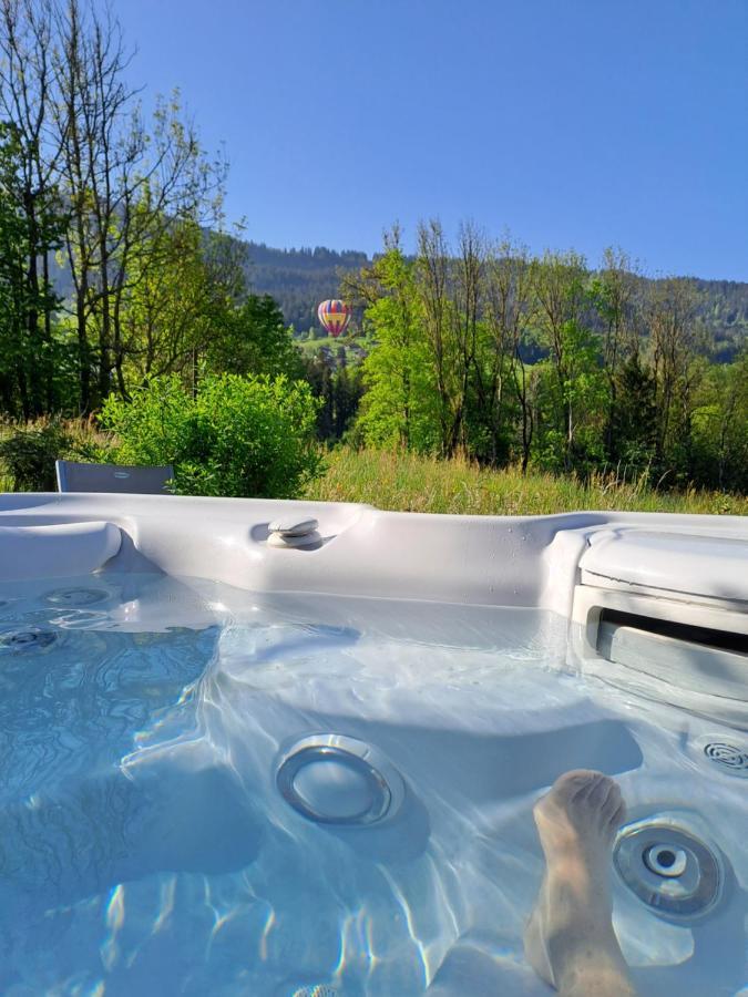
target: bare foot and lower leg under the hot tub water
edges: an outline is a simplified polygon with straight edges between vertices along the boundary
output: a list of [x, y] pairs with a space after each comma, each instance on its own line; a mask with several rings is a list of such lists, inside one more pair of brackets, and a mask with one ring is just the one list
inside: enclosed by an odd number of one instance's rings
[[580, 769], [535, 804], [547, 867], [525, 933], [533, 969], [564, 997], [634, 997], [613, 931], [611, 850], [626, 812], [617, 784]]

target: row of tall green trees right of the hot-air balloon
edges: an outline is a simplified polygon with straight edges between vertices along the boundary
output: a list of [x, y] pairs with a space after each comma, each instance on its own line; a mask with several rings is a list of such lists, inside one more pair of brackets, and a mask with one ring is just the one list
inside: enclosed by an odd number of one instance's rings
[[438, 222], [348, 287], [372, 346], [356, 440], [667, 489], [746, 489], [746, 361], [711, 364], [695, 281], [643, 281], [618, 249], [532, 258]]

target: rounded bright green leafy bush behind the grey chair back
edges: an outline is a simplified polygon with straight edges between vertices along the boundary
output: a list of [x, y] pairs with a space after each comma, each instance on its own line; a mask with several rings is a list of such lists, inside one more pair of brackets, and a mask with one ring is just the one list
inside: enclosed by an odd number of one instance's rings
[[120, 463], [173, 464], [177, 494], [287, 498], [320, 471], [316, 414], [309, 386], [285, 377], [208, 374], [193, 397], [172, 376], [110, 397], [102, 424]]

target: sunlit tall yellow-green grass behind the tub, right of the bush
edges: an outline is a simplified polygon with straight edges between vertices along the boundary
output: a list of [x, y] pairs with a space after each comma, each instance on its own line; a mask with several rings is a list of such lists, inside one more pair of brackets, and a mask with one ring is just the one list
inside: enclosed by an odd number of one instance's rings
[[518, 469], [490, 471], [457, 458], [339, 448], [304, 497], [365, 502], [378, 508], [473, 515], [546, 515], [580, 510], [748, 515], [748, 497], [689, 489], [656, 492], [644, 477], [596, 474], [586, 482]]

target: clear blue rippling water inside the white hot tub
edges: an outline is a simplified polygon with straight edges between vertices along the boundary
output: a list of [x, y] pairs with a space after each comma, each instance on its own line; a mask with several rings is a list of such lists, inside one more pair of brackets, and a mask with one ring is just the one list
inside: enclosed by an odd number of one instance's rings
[[[723, 909], [691, 929], [617, 887], [616, 924], [643, 993], [738, 993], [748, 783], [683, 750], [714, 722], [583, 680], [565, 637], [529, 610], [161, 576], [4, 585], [0, 990], [546, 993], [522, 960], [531, 808], [590, 767], [637, 814], [724, 814]], [[280, 796], [284, 751], [328, 732], [401, 773], [391, 820], [319, 825]]]

